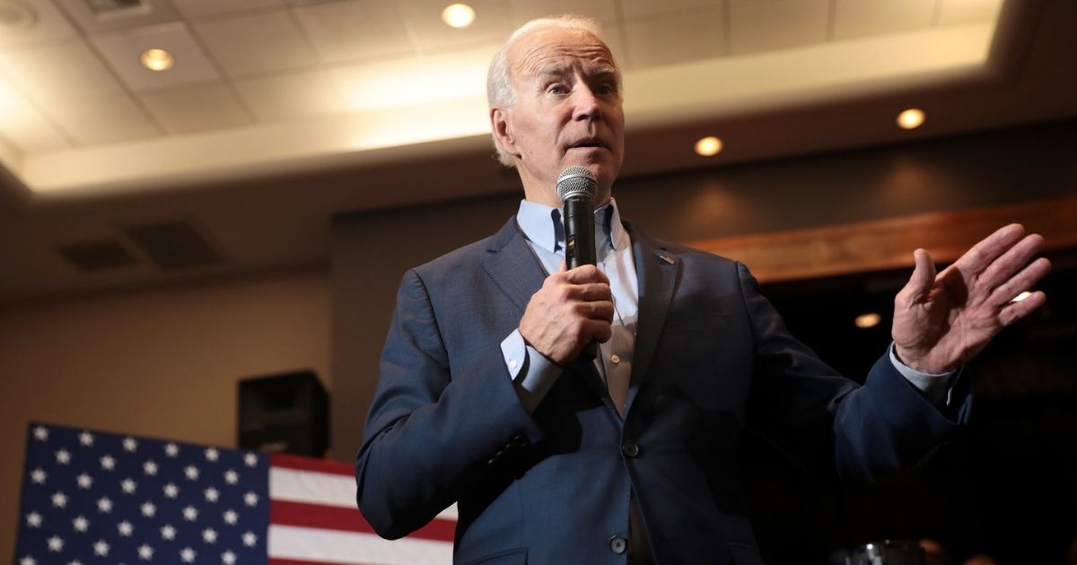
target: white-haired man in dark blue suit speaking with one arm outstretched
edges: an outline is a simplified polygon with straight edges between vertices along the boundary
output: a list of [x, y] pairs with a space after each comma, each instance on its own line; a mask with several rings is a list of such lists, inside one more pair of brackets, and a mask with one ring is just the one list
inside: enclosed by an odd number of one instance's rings
[[[1020, 226], [938, 274], [918, 250], [894, 344], [857, 386], [785, 330], [743, 265], [620, 220], [620, 73], [589, 22], [523, 26], [488, 88], [526, 198], [494, 236], [404, 276], [355, 463], [384, 537], [458, 503], [458, 563], [759, 564], [745, 427], [847, 479], [915, 465], [963, 419], [959, 367], [1045, 300], [1011, 301], [1049, 269]], [[572, 270], [555, 192], [569, 166], [599, 188], [599, 265]]]

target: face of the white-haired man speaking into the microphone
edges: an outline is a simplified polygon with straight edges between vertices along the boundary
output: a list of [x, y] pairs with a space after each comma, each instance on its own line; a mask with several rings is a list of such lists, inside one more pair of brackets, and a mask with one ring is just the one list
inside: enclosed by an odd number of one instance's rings
[[[517, 156], [528, 198], [559, 206], [557, 175], [581, 165], [599, 180], [596, 201], [609, 199], [625, 146], [625, 113], [610, 50], [586, 31], [545, 29], [519, 40], [508, 60], [516, 103], [503, 110], [501, 140]], [[495, 128], [496, 122], [495, 114]]]

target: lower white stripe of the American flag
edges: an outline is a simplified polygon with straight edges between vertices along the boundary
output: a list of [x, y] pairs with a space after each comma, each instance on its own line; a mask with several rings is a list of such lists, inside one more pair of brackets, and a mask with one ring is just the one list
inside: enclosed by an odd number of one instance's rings
[[400, 565], [452, 563], [452, 543], [448, 541], [418, 538], [389, 541], [374, 534], [309, 527], [270, 525], [268, 548], [270, 559]]

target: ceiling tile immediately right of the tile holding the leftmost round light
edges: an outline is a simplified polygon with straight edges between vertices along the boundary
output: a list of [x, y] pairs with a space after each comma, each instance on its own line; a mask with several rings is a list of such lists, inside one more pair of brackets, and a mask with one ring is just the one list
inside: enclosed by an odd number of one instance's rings
[[314, 50], [285, 10], [193, 24], [210, 55], [229, 76], [310, 67]]

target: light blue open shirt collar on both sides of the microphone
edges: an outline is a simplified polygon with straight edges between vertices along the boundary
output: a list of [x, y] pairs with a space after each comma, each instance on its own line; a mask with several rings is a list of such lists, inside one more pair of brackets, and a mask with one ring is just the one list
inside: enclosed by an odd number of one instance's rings
[[[523, 235], [535, 245], [558, 253], [564, 249], [564, 223], [561, 221], [561, 210], [530, 200], [520, 200], [520, 209], [516, 212], [516, 223]], [[617, 201], [595, 211], [595, 235], [599, 238], [597, 246], [600, 250], [611, 248], [620, 251], [628, 246], [628, 232], [620, 222]]]

